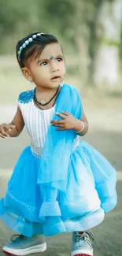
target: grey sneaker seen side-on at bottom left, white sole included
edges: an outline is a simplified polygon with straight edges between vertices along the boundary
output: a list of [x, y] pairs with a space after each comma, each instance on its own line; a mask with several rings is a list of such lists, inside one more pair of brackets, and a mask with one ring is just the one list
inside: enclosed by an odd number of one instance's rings
[[46, 250], [46, 242], [44, 236], [13, 235], [11, 241], [2, 250], [9, 255], [36, 254]]

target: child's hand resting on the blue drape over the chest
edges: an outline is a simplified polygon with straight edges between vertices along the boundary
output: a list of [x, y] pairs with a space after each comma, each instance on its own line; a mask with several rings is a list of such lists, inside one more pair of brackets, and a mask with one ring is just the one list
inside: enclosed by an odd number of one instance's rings
[[56, 113], [58, 117], [61, 117], [61, 120], [52, 120], [50, 123], [53, 126], [57, 126], [57, 131], [65, 131], [69, 129], [74, 129], [78, 119], [74, 117], [71, 113], [62, 111], [61, 113]]

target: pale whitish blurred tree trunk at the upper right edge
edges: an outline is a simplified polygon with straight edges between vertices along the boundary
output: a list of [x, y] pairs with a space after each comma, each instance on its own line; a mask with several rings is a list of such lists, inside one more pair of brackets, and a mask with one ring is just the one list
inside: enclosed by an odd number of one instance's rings
[[113, 89], [119, 83], [119, 46], [122, 0], [102, 2], [98, 13], [98, 47], [94, 59], [94, 85]]

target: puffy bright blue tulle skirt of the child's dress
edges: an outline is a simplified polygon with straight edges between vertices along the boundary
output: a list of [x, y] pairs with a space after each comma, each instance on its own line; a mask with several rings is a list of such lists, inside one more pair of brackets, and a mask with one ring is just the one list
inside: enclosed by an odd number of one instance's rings
[[66, 193], [37, 184], [41, 158], [26, 147], [13, 171], [0, 217], [24, 236], [84, 231], [100, 224], [116, 206], [116, 171], [88, 143], [79, 142], [72, 153]]

